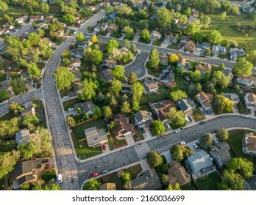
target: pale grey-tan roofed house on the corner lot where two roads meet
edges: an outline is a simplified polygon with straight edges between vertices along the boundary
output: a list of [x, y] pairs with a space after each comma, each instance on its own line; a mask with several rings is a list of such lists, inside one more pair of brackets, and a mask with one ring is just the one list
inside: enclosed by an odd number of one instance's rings
[[107, 134], [104, 130], [98, 130], [96, 126], [85, 129], [85, 138], [88, 146], [101, 146], [107, 143]]

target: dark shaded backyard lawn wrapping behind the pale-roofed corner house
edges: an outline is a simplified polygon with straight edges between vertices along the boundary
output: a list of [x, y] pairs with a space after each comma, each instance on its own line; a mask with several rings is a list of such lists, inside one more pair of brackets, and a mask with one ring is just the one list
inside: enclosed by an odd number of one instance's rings
[[76, 131], [77, 138], [82, 139], [85, 138], [85, 129], [88, 129], [90, 127], [96, 126], [97, 129], [104, 129], [107, 130], [107, 125], [104, 122], [103, 118], [93, 119], [88, 122], [83, 122], [82, 124], [79, 124], [74, 127], [74, 130]]

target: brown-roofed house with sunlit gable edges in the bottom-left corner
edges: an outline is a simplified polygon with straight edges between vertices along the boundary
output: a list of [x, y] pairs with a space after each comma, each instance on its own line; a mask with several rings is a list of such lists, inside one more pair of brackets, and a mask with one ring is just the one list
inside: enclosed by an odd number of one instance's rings
[[15, 165], [14, 176], [18, 180], [18, 186], [22, 184], [35, 182], [37, 179], [37, 172], [41, 170], [41, 158], [35, 160], [27, 160]]

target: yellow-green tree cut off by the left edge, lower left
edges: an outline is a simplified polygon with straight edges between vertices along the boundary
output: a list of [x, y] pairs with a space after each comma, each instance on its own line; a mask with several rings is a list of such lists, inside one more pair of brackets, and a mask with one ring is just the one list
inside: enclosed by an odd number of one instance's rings
[[11, 152], [0, 153], [0, 179], [13, 171], [15, 163], [15, 157]]

